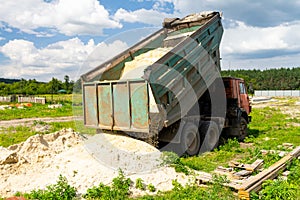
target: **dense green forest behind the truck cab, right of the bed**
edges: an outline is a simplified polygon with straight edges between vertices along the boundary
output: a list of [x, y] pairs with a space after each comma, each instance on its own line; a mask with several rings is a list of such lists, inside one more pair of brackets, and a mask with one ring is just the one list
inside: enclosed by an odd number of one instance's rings
[[243, 78], [251, 90], [300, 90], [300, 68], [225, 70], [222, 76]]

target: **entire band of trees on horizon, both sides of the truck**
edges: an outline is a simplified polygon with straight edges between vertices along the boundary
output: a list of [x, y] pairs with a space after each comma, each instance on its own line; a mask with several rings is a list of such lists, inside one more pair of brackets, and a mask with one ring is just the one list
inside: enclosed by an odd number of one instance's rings
[[[243, 78], [249, 88], [253, 90], [300, 90], [300, 68], [280, 68], [268, 70], [224, 70], [222, 76]], [[52, 78], [48, 83], [38, 82], [35, 79], [3, 79], [0, 78], [0, 96], [5, 95], [40, 95], [57, 94], [64, 90], [65, 93], [81, 91], [81, 81], [70, 80], [65, 75], [64, 81]]]

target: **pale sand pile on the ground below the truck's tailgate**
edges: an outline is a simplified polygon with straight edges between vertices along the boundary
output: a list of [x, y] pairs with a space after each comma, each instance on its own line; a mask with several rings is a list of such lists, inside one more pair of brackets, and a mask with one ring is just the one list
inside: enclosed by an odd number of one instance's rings
[[[59, 175], [83, 194], [100, 182], [110, 184], [119, 168], [133, 181], [141, 178], [159, 190], [172, 189], [174, 179], [187, 183], [188, 178], [160, 163], [160, 152], [142, 141], [107, 134], [86, 138], [63, 129], [0, 147], [0, 196], [45, 189]], [[134, 195], [139, 192], [133, 190]]]

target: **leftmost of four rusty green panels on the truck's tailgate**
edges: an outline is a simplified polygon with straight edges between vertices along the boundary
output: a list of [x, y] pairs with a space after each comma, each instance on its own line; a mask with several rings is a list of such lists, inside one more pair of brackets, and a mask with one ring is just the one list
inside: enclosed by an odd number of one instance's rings
[[97, 90], [95, 84], [83, 86], [84, 94], [84, 124], [86, 126], [98, 126]]

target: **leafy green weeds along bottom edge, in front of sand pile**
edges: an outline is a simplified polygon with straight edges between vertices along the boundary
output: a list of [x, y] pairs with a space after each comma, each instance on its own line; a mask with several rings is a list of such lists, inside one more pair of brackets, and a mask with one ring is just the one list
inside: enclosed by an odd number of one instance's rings
[[[122, 171], [119, 171], [119, 175], [115, 177], [111, 185], [104, 185], [99, 183], [98, 186], [89, 188], [85, 194], [82, 195], [84, 199], [102, 199], [102, 200], [124, 200], [124, 199], [141, 199], [141, 200], [162, 200], [162, 199], [220, 199], [220, 200], [232, 200], [236, 199], [233, 193], [222, 186], [226, 179], [220, 176], [215, 176], [213, 183], [208, 187], [203, 188], [197, 186], [195, 183], [190, 183], [187, 186], [182, 186], [177, 180], [172, 181], [173, 189], [167, 192], [158, 191], [156, 195], [144, 195], [140, 197], [132, 198], [130, 187], [133, 181], [126, 178]], [[143, 180], [139, 179], [136, 183], [143, 184]], [[138, 186], [141, 191], [145, 191], [146, 188]], [[153, 193], [155, 191], [154, 186], [150, 183], [147, 187], [148, 192]], [[18, 192], [16, 196], [23, 196], [26, 199], [57, 199], [57, 200], [71, 200], [79, 199], [76, 189], [69, 185], [67, 179], [62, 175], [59, 176], [59, 180], [56, 184], [49, 185], [45, 190], [33, 190], [29, 193]]]

